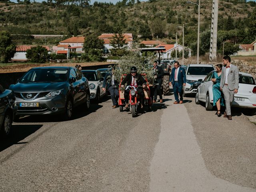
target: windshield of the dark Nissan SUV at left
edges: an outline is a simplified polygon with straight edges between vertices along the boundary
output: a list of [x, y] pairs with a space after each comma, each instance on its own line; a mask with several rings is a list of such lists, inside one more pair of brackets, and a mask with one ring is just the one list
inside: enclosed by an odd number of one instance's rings
[[32, 69], [26, 72], [20, 79], [22, 83], [30, 82], [63, 82], [68, 77], [68, 70], [66, 69]]

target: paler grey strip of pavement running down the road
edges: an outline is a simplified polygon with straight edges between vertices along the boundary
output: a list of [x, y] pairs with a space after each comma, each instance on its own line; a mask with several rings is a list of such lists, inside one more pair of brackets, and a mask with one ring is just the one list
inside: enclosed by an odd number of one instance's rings
[[161, 132], [150, 166], [150, 192], [255, 192], [216, 178], [206, 168], [183, 104], [164, 109]]

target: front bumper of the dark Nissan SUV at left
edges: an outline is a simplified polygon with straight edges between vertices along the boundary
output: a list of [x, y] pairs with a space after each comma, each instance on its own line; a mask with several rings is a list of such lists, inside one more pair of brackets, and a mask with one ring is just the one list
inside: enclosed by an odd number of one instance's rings
[[[60, 114], [65, 111], [66, 96], [58, 95], [51, 98], [39, 98], [35, 100], [23, 100], [16, 98], [18, 110], [16, 115], [43, 115]], [[38, 107], [22, 107], [21, 103], [39, 103]]]

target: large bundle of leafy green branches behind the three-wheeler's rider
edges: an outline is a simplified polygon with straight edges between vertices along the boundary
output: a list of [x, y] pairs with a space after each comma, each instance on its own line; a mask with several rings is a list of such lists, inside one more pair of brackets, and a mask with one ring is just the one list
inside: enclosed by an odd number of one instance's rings
[[114, 75], [117, 81], [121, 80], [122, 74], [129, 74], [130, 68], [136, 66], [137, 73], [146, 74], [149, 83], [154, 82], [154, 74], [152, 70], [155, 56], [142, 56], [138, 43], [132, 45], [132, 49], [127, 55], [119, 58], [117, 64], [115, 64]]

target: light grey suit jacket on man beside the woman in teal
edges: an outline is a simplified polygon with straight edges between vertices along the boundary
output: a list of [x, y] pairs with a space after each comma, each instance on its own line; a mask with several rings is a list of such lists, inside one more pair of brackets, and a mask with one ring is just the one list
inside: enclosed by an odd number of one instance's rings
[[[222, 67], [221, 78], [220, 78], [220, 88], [224, 87], [226, 78], [226, 67]], [[230, 66], [228, 72], [228, 88], [229, 90], [238, 89], [239, 86], [239, 72], [238, 68], [235, 65]]]

